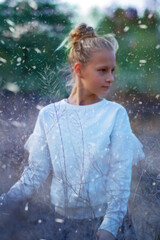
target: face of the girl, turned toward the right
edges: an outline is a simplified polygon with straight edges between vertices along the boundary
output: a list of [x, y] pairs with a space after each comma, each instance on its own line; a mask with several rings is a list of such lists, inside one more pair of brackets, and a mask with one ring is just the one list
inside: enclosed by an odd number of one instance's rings
[[105, 96], [114, 81], [116, 56], [112, 50], [101, 49], [92, 54], [90, 61], [81, 66], [80, 80], [85, 91]]

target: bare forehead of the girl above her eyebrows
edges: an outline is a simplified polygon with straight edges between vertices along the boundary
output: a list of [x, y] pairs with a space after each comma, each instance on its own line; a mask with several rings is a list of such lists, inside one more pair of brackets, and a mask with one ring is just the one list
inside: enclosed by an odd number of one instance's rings
[[116, 56], [112, 50], [100, 49], [92, 53], [90, 64], [93, 65], [116, 65]]

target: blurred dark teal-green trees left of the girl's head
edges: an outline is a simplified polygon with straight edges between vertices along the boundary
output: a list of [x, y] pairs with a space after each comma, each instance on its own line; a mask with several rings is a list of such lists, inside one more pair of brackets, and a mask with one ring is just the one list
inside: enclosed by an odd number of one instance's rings
[[10, 3], [0, 5], [1, 87], [14, 82], [21, 91], [43, 92], [41, 74], [66, 61], [63, 49], [54, 50], [71, 29], [72, 14], [50, 1]]

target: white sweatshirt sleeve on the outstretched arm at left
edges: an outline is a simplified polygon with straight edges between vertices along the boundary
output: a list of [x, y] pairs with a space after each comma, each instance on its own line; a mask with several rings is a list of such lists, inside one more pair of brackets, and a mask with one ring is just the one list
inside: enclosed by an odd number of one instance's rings
[[51, 160], [44, 130], [44, 112], [39, 112], [33, 133], [24, 148], [29, 152], [28, 166], [24, 169], [19, 181], [7, 192], [12, 201], [23, 201], [30, 197], [50, 173]]

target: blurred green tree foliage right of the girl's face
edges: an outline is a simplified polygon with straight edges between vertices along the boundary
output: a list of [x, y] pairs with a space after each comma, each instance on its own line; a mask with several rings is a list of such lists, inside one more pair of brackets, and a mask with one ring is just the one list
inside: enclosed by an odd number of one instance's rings
[[115, 34], [120, 49], [117, 53], [118, 76], [115, 86], [126, 91], [160, 91], [159, 16], [146, 10], [138, 17], [136, 9], [116, 9], [98, 24], [100, 34]]

